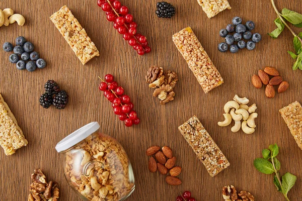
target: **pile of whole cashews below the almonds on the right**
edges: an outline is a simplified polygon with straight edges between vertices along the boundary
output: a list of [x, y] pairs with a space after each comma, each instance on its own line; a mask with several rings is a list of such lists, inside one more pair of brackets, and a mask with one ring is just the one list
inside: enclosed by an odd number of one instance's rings
[[[235, 125], [231, 128], [231, 131], [236, 133], [242, 128], [242, 131], [246, 134], [252, 134], [255, 132], [256, 124], [255, 119], [258, 114], [255, 113], [257, 107], [256, 104], [247, 105], [250, 100], [246, 97], [239, 97], [237, 94], [233, 100], [230, 100], [224, 105], [224, 121], [218, 122], [218, 126], [229, 126], [232, 119], [235, 121]], [[241, 123], [241, 120], [243, 122]]]

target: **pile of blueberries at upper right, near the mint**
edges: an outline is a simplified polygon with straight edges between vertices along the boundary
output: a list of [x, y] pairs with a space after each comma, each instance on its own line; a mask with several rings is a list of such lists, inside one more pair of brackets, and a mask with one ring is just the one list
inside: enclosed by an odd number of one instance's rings
[[[232, 20], [233, 25], [229, 24], [226, 29], [221, 29], [219, 35], [225, 38], [225, 43], [218, 44], [218, 50], [220, 52], [228, 51], [230, 45], [230, 52], [236, 53], [239, 49], [247, 48], [253, 50], [256, 47], [256, 43], [261, 41], [261, 35], [258, 33], [252, 34], [251, 31], [255, 28], [253, 21], [248, 21], [245, 25], [241, 24], [242, 19], [235, 17]], [[233, 35], [231, 33], [235, 32]], [[247, 43], [242, 39], [249, 40]], [[252, 40], [250, 40], [252, 39]], [[237, 44], [234, 44], [237, 42]]]

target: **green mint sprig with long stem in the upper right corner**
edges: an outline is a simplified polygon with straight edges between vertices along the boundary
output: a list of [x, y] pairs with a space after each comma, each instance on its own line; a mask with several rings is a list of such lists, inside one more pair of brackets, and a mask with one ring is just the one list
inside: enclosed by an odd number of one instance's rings
[[295, 34], [286, 23], [289, 22], [295, 27], [302, 28], [302, 15], [286, 8], [282, 9], [281, 13], [279, 13], [274, 3], [274, 0], [271, 0], [271, 2], [278, 18], [274, 20], [277, 29], [275, 29], [268, 35], [270, 35], [272, 38], [277, 38], [282, 33], [285, 27], [289, 29], [289, 31], [293, 35], [293, 47], [295, 53], [291, 51], [287, 52], [293, 59], [296, 59], [292, 66], [292, 69], [296, 70], [299, 68], [300, 70], [302, 70], [302, 32], [300, 32], [298, 35]]

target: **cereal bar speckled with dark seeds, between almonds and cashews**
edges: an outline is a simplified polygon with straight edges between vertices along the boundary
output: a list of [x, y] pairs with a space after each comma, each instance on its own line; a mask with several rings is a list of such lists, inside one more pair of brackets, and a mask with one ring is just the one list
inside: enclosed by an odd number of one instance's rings
[[228, 159], [225, 158], [196, 116], [178, 127], [178, 130], [212, 177], [230, 166]]

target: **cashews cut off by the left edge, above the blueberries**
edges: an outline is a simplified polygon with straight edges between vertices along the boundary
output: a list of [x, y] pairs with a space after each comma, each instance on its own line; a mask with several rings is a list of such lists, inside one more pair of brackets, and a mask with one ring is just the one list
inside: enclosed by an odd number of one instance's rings
[[25, 23], [25, 19], [20, 14], [14, 14], [13, 9], [0, 9], [0, 27], [2, 25], [9, 26], [10, 24], [13, 24], [17, 22], [18, 25], [23, 26]]

